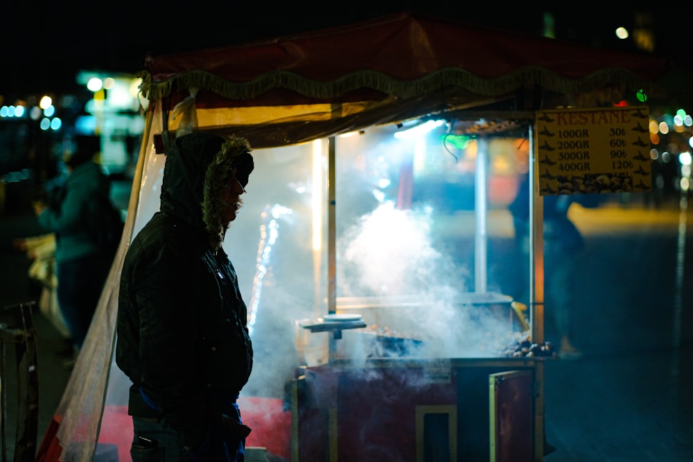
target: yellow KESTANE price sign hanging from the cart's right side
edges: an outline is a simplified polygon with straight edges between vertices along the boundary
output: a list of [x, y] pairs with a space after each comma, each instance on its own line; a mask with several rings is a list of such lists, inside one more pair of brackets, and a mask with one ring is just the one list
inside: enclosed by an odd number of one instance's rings
[[536, 113], [539, 193], [626, 193], [652, 188], [649, 108]]

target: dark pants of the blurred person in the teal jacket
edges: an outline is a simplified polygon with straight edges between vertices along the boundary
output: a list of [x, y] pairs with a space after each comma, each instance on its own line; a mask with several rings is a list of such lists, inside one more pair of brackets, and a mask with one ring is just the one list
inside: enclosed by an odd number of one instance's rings
[[75, 346], [82, 348], [111, 260], [87, 256], [58, 262], [58, 305]]

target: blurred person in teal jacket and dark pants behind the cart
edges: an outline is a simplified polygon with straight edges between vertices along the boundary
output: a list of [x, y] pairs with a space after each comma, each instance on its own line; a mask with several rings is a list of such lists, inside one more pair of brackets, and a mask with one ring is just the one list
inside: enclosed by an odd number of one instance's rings
[[101, 238], [104, 215], [113, 207], [110, 180], [94, 161], [98, 139], [78, 137], [76, 149], [64, 154], [67, 178], [49, 200], [33, 203], [38, 223], [55, 235], [58, 305], [74, 342], [76, 361], [94, 316], [114, 257]]

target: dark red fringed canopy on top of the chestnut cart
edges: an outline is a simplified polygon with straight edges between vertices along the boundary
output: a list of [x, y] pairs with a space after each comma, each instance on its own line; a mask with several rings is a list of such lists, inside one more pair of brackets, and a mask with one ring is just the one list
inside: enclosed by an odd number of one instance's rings
[[193, 98], [199, 127], [257, 148], [421, 114], [611, 105], [656, 94], [667, 71], [651, 55], [411, 13], [145, 63], [143, 96], [164, 114]]

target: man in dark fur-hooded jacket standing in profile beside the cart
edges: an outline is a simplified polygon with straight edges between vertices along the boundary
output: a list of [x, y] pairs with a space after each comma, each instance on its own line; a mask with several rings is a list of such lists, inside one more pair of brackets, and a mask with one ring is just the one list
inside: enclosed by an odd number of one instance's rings
[[[243, 461], [247, 308], [222, 242], [254, 168], [245, 139], [196, 132], [166, 152], [160, 211], [132, 241], [116, 363], [132, 380], [132, 460]], [[161, 459], [165, 454], [165, 459]]]

